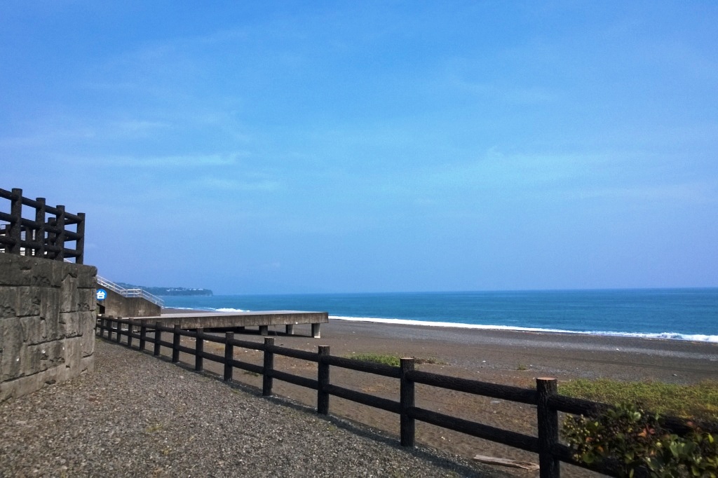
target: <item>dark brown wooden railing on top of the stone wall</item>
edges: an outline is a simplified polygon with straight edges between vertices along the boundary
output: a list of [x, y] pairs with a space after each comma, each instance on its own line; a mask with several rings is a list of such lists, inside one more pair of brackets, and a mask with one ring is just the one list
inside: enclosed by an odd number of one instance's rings
[[[0, 189], [0, 198], [10, 201], [10, 212], [0, 210], [0, 252], [42, 257], [55, 261], [75, 258], [83, 263], [85, 249], [85, 213], [70, 214], [65, 206], [48, 206], [44, 197], [31, 200], [22, 189]], [[32, 219], [22, 217], [22, 207], [32, 207]], [[47, 217], [48, 215], [54, 217]], [[5, 224], [3, 224], [5, 222]], [[67, 229], [75, 225], [75, 230]], [[67, 243], [75, 248], [67, 248]]]

